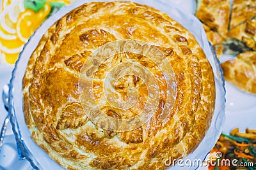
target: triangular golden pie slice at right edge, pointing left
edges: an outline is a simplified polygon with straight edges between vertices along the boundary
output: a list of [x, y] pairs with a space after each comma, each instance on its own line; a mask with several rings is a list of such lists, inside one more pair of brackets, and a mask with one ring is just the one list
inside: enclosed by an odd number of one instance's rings
[[247, 20], [244, 24], [238, 25], [228, 31], [228, 36], [244, 41], [246, 45], [256, 50], [256, 21], [255, 18]]

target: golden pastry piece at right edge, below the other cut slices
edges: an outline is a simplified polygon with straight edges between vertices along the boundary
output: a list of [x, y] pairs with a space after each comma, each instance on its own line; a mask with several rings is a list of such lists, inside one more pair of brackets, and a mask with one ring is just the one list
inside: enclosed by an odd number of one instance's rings
[[221, 64], [225, 80], [244, 92], [256, 94], [256, 52], [245, 52]]

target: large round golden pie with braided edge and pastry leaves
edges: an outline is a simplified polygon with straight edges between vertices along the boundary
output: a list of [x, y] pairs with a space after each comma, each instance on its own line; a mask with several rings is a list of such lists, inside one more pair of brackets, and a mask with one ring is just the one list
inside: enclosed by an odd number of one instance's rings
[[215, 106], [194, 36], [128, 1], [86, 3], [52, 25], [22, 92], [31, 138], [67, 169], [166, 169], [199, 145]]

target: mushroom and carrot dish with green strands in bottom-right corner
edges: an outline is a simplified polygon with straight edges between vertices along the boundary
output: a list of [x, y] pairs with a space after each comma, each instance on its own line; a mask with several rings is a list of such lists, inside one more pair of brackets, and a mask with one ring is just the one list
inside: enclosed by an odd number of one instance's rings
[[256, 169], [256, 130], [246, 129], [246, 132], [239, 132], [236, 128], [230, 135], [222, 133], [211, 153], [222, 154], [217, 159], [212, 158], [215, 161], [210, 164], [209, 169]]

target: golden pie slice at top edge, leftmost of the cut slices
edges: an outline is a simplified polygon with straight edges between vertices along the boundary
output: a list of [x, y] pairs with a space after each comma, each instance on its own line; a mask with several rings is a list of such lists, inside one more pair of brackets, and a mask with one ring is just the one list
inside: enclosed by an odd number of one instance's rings
[[230, 15], [230, 0], [197, 1], [196, 17], [221, 36], [226, 37]]

